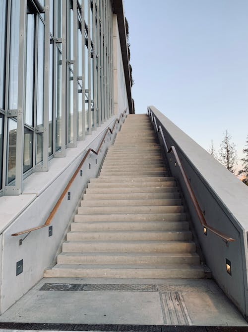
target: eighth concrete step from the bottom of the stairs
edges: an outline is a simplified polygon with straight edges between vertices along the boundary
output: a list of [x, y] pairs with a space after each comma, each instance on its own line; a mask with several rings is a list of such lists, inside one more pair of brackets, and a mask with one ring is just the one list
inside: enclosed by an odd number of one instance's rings
[[125, 206], [176, 206], [182, 205], [181, 199], [123, 199], [81, 201], [81, 207], [125, 207]]

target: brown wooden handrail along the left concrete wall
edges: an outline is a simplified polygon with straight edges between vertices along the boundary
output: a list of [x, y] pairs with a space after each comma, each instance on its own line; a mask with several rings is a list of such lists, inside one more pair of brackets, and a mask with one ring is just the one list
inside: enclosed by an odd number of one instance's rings
[[[126, 113], [126, 110], [124, 111], [124, 113]], [[85, 160], [87, 159], [88, 155], [90, 154], [90, 152], [93, 152], [94, 154], [98, 154], [98, 153], [99, 153], [99, 151], [100, 151], [100, 149], [101, 149], [101, 147], [102, 147], [102, 145], [103, 145], [103, 142], [104, 142], [104, 140], [105, 140], [106, 135], [108, 134], [109, 131], [111, 132], [111, 134], [113, 134], [113, 132], [114, 132], [114, 128], [115, 128], [115, 125], [116, 125], [116, 122], [120, 123], [121, 117], [124, 117], [124, 113], [121, 113], [119, 119], [116, 118], [115, 123], [114, 123], [112, 129], [111, 129], [110, 127], [108, 127], [108, 128], [106, 129], [106, 132], [105, 132], [105, 134], [104, 134], [104, 136], [103, 136], [103, 139], [101, 140], [101, 143], [100, 143], [100, 145], [99, 145], [97, 151], [93, 150], [92, 148], [89, 148], [88, 151], [85, 153], [83, 159], [81, 160], [79, 166], [77, 167], [77, 169], [75, 170], [74, 174], [73, 174], [72, 177], [70, 178], [70, 181], [68, 182], [67, 186], [64, 188], [64, 190], [63, 190], [63, 192], [62, 192], [62, 194], [61, 194], [59, 200], [57, 201], [55, 207], [54, 207], [53, 210], [51, 211], [51, 213], [50, 213], [49, 217], [47, 218], [47, 220], [45, 221], [45, 223], [44, 223], [43, 225], [41, 225], [41, 226], [37, 226], [37, 227], [33, 227], [33, 228], [29, 228], [29, 229], [22, 230], [22, 231], [17, 232], [17, 233], [13, 233], [13, 234], [11, 234], [12, 236], [17, 236], [17, 235], [22, 235], [22, 234], [25, 234], [25, 233], [30, 233], [30, 232], [33, 231], [33, 230], [41, 229], [41, 228], [43, 228], [43, 227], [46, 227], [46, 226], [50, 225], [51, 221], [53, 220], [53, 218], [54, 218], [56, 212], [58, 211], [58, 209], [59, 209], [59, 207], [60, 207], [60, 205], [61, 205], [61, 203], [62, 203], [63, 198], [65, 197], [66, 193], [68, 192], [68, 189], [69, 189], [70, 185], [71, 185], [72, 182], [75, 180], [75, 177], [77, 176], [77, 174], [78, 174], [80, 168], [82, 167], [83, 163], [84, 163]]]

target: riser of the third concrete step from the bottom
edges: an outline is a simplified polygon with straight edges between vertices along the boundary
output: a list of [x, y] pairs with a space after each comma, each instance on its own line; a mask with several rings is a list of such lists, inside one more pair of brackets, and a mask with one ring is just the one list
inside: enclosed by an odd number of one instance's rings
[[63, 252], [194, 252], [194, 243], [75, 243], [64, 242]]

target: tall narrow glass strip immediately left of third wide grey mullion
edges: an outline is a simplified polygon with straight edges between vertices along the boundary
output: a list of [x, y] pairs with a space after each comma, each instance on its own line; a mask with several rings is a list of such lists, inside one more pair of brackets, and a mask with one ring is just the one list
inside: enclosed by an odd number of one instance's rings
[[56, 151], [61, 149], [61, 120], [62, 120], [62, 57], [61, 52], [56, 47]]

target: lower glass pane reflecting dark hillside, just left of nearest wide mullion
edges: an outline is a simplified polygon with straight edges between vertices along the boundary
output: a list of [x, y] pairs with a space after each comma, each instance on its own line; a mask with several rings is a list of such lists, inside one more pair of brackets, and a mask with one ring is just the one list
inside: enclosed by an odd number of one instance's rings
[[16, 162], [16, 121], [8, 118], [8, 181], [10, 183], [15, 179]]

